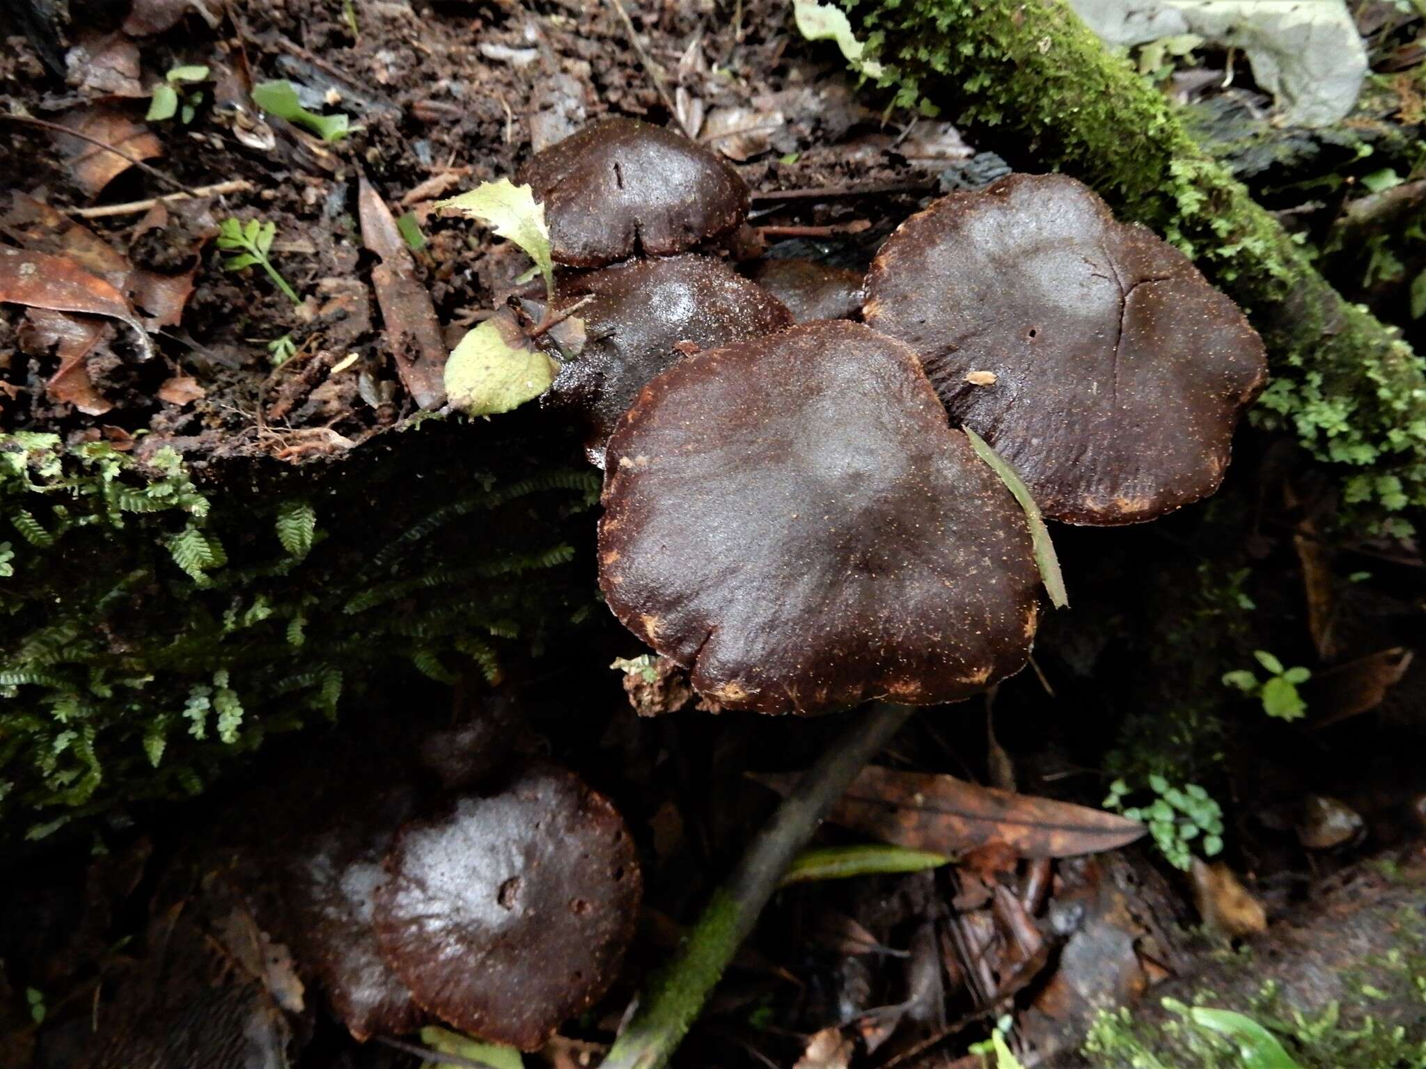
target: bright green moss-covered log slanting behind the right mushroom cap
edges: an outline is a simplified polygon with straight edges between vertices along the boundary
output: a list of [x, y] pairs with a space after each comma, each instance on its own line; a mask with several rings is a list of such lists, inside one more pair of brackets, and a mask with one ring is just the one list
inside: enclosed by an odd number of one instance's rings
[[1358, 515], [1403, 530], [1426, 505], [1426, 375], [1397, 332], [1345, 302], [1175, 107], [1061, 0], [854, 0], [901, 104], [980, 131], [1025, 170], [1058, 168], [1192, 255], [1268, 342], [1256, 408], [1342, 475]]

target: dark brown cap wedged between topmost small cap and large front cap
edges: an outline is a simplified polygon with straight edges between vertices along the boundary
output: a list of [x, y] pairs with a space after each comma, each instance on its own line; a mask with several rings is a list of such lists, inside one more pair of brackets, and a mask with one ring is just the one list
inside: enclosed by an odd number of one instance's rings
[[585, 346], [563, 365], [546, 403], [589, 420], [589, 459], [603, 468], [605, 440], [643, 385], [680, 359], [673, 346], [714, 349], [791, 325], [783, 304], [719, 259], [670, 257], [590, 271], [560, 284], [558, 301], [582, 305]]

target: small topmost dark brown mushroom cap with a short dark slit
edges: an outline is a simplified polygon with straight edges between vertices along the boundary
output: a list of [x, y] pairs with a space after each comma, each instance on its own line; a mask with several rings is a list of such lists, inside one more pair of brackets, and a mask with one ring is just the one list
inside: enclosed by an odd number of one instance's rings
[[749, 190], [729, 164], [663, 127], [606, 118], [519, 172], [545, 204], [555, 261], [600, 267], [667, 257], [733, 229]]

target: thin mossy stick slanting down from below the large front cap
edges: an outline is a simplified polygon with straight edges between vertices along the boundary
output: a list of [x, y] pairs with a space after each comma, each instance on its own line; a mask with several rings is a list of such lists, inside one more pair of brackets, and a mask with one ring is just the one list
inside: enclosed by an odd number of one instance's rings
[[662, 1069], [697, 1018], [723, 969], [827, 811], [915, 710], [876, 701], [803, 773], [723, 885], [713, 892], [673, 959], [639, 992], [633, 1019], [602, 1069]]

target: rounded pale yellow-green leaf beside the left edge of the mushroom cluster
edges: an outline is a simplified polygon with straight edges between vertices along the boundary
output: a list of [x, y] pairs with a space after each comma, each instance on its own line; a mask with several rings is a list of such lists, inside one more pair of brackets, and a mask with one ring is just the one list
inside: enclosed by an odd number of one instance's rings
[[492, 316], [466, 334], [446, 361], [446, 396], [466, 415], [492, 416], [538, 398], [558, 371], [512, 321]]

